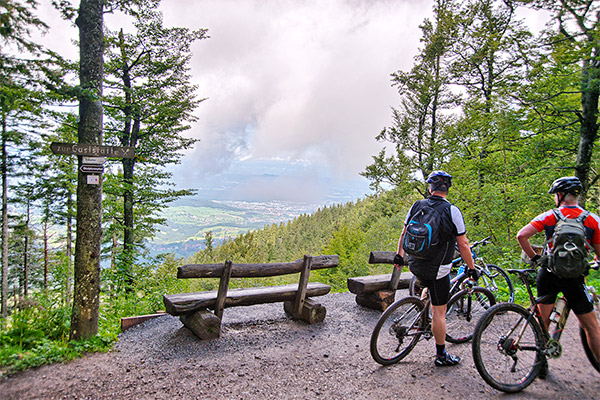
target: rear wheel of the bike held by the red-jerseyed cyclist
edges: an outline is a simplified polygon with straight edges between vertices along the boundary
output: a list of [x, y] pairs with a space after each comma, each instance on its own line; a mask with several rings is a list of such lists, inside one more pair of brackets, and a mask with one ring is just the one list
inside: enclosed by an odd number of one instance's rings
[[[546, 360], [542, 352], [544, 334], [535, 318], [530, 317], [529, 311], [518, 304], [499, 303], [475, 327], [473, 361], [479, 375], [496, 390], [520, 392], [542, 369]], [[514, 345], [515, 336], [520, 336], [518, 346]]]

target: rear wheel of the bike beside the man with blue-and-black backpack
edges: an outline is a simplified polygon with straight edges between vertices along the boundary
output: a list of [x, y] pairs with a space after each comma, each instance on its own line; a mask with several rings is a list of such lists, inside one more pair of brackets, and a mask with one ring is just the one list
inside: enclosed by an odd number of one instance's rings
[[424, 307], [420, 299], [405, 297], [384, 311], [371, 334], [371, 356], [376, 362], [395, 364], [411, 352], [426, 326]]

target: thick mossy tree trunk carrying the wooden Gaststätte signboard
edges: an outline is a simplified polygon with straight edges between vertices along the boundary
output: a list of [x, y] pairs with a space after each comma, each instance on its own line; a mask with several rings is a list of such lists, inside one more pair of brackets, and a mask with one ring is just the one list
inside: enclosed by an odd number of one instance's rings
[[[81, 87], [88, 93], [79, 100], [77, 134], [80, 144], [102, 144], [103, 0], [81, 0], [79, 27]], [[81, 166], [81, 158], [78, 160]], [[77, 235], [71, 340], [98, 333], [100, 306], [100, 243], [102, 239], [102, 180], [88, 184], [78, 172]]]

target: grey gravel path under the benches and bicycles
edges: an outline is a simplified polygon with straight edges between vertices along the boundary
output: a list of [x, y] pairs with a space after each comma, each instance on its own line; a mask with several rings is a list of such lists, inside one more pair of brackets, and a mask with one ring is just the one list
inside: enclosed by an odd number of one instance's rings
[[327, 317], [315, 325], [290, 320], [281, 303], [228, 308], [222, 337], [209, 342], [178, 318], [159, 317], [121, 334], [109, 353], [3, 378], [0, 399], [600, 398], [600, 374], [583, 354], [573, 317], [548, 378], [507, 396], [479, 377], [470, 344], [448, 345], [463, 358], [456, 367], [433, 365], [433, 341], [380, 366], [369, 353], [380, 312], [356, 305], [350, 293], [320, 301]]

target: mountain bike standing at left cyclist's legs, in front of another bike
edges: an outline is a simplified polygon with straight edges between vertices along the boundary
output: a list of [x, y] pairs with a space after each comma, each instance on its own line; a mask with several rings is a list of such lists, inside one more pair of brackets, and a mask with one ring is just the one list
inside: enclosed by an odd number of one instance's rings
[[[488, 289], [466, 285], [448, 301], [446, 340], [470, 340], [478, 316], [496, 304]], [[371, 356], [381, 365], [397, 363], [406, 357], [421, 338], [431, 339], [431, 301], [427, 290], [423, 298], [404, 297], [381, 315], [371, 334]]]

